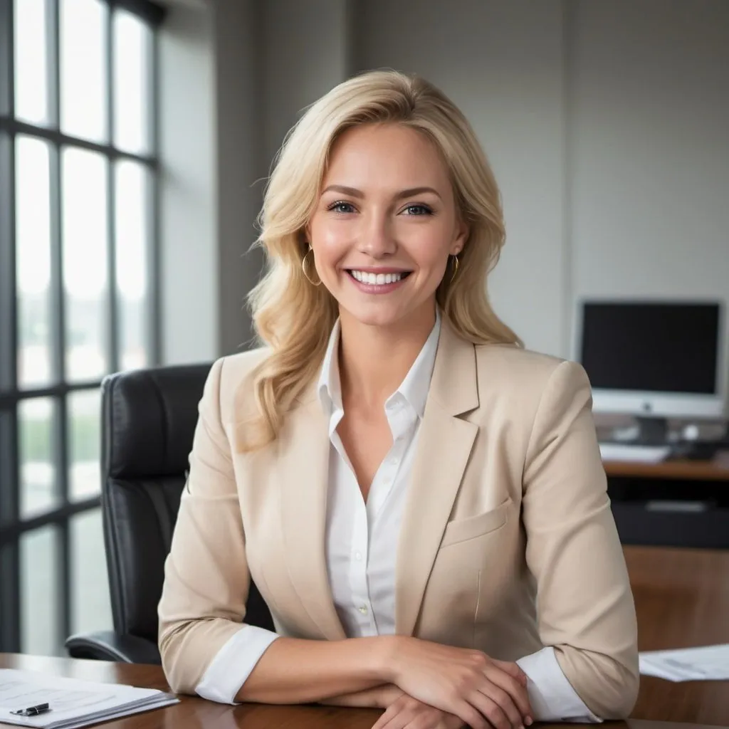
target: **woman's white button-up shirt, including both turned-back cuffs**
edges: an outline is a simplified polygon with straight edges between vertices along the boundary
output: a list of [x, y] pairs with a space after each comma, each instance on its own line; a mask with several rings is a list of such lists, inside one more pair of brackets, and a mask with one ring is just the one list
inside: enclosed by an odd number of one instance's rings
[[[327, 572], [332, 597], [347, 636], [394, 634], [395, 561], [402, 511], [413, 470], [418, 430], [425, 412], [440, 312], [405, 380], [385, 402], [392, 447], [375, 473], [367, 501], [337, 426], [344, 416], [339, 375], [339, 322], [330, 336], [317, 391], [329, 417], [332, 444], [327, 498]], [[278, 634], [245, 625], [218, 652], [196, 687], [203, 698], [235, 703], [235, 695]], [[600, 722], [572, 688], [551, 647], [517, 661], [527, 675], [537, 721]]]

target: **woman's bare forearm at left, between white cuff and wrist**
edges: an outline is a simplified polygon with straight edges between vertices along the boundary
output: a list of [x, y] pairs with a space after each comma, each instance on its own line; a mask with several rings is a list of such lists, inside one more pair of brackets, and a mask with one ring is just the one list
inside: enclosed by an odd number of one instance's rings
[[394, 636], [343, 641], [279, 638], [261, 656], [237, 701], [312, 703], [389, 684]]

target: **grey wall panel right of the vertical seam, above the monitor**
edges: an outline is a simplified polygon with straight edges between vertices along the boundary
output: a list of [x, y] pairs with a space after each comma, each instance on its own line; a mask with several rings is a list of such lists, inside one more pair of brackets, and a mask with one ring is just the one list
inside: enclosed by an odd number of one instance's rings
[[576, 9], [575, 294], [728, 300], [729, 3]]

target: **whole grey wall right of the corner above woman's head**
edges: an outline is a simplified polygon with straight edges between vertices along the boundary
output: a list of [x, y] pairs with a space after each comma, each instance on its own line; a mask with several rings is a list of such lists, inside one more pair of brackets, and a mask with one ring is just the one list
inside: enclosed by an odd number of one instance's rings
[[486, 148], [508, 233], [492, 298], [527, 346], [574, 356], [577, 297], [729, 298], [729, 3], [359, 12], [357, 66], [432, 79]]

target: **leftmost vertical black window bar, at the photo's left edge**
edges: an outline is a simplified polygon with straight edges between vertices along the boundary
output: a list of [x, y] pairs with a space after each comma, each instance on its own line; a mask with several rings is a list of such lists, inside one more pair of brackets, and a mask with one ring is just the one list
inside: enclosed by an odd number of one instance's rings
[[[12, 116], [12, 0], [0, 0], [0, 114]], [[15, 136], [0, 132], [0, 391], [17, 389], [15, 297]], [[0, 531], [17, 522], [20, 479], [17, 404], [0, 409]], [[20, 650], [20, 554], [17, 540], [0, 548], [0, 651]]]

